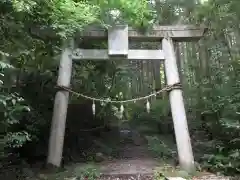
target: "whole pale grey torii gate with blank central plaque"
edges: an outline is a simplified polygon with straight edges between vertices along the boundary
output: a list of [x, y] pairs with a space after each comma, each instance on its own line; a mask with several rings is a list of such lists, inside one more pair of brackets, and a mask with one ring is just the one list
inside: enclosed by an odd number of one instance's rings
[[[77, 53], [73, 48], [64, 47], [61, 55], [58, 86], [70, 87], [72, 74], [72, 60], [164, 60], [167, 84], [180, 83], [177, 59], [174, 52], [173, 41], [184, 42], [199, 40], [204, 34], [204, 27], [191, 25], [158, 26], [150, 33], [141, 34], [128, 26], [119, 25], [108, 29], [92, 29], [78, 35], [87, 39], [108, 39], [108, 49], [80, 49]], [[130, 40], [136, 41], [162, 41], [159, 50], [129, 50]], [[60, 89], [55, 96], [51, 134], [49, 139], [49, 152], [47, 163], [59, 167], [61, 165], [66, 114], [69, 92]], [[169, 92], [171, 112], [176, 136], [179, 163], [181, 168], [191, 172], [194, 168], [194, 157], [190, 142], [186, 112], [181, 89]], [[81, 119], [81, 117], [80, 117]]]

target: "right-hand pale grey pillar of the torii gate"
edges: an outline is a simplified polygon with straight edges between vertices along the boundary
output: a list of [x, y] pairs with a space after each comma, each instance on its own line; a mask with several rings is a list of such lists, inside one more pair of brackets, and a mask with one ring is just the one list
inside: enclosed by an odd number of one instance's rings
[[[177, 59], [171, 38], [162, 40], [162, 49], [165, 56], [165, 72], [167, 84], [173, 85], [180, 82]], [[169, 92], [169, 100], [177, 142], [180, 166], [187, 172], [195, 170], [191, 140], [188, 131], [186, 112], [181, 89], [173, 89]]]

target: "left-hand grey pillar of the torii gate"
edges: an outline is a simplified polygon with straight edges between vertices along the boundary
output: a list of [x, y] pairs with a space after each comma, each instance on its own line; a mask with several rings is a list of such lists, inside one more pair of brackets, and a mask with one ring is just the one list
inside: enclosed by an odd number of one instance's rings
[[[67, 46], [67, 45], [66, 45]], [[72, 49], [63, 47], [58, 72], [58, 86], [70, 87], [72, 74]], [[61, 166], [69, 92], [58, 90], [55, 95], [47, 164]]]

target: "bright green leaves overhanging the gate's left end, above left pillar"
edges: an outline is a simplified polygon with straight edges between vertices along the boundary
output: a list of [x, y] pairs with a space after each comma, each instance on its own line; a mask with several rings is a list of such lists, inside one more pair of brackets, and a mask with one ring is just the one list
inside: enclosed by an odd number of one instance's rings
[[[77, 31], [86, 25], [99, 23], [100, 9], [98, 5], [85, 1], [75, 2], [73, 0], [53, 1], [13, 1], [13, 7], [18, 14], [28, 17], [24, 21], [34, 21], [36, 27], [56, 33], [61, 38], [72, 37]], [[37, 19], [32, 19], [34, 17]], [[39, 27], [40, 26], [40, 27]], [[51, 32], [51, 30], [54, 30]], [[54, 35], [54, 34], [53, 34]]]

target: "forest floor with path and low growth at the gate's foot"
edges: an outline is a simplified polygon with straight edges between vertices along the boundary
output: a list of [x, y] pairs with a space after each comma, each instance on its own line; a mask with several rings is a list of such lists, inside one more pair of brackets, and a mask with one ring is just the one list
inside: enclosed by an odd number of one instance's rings
[[[131, 139], [129, 141], [129, 139]], [[83, 171], [84, 169], [84, 171]], [[210, 173], [198, 173], [191, 177], [183, 171], [177, 170], [173, 162], [160, 161], [153, 158], [148, 151], [145, 139], [140, 136], [127, 137], [121, 141], [119, 158], [105, 160], [94, 164], [73, 164], [65, 167], [64, 172], [54, 174], [40, 174], [38, 179], [49, 180], [78, 180], [81, 176], [88, 176], [88, 180], [153, 180], [164, 179], [156, 172], [164, 174], [166, 177], [184, 177], [195, 180], [229, 180], [227, 177], [220, 177]], [[94, 177], [99, 173], [100, 177]], [[177, 180], [177, 179], [176, 179]], [[181, 180], [181, 179], [179, 179]]]

